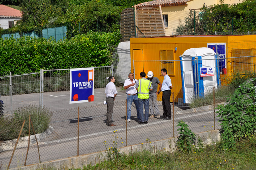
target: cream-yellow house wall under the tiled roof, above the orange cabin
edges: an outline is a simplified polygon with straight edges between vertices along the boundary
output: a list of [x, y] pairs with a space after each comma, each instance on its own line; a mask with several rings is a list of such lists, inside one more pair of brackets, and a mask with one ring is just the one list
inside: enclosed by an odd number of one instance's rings
[[[237, 4], [243, 0], [224, 0], [224, 4]], [[205, 3], [206, 6], [220, 4], [219, 0], [191, 0], [187, 5], [162, 7], [162, 14], [168, 14], [168, 28], [165, 28], [166, 36], [174, 35], [174, 29], [179, 25], [179, 20], [184, 21], [189, 15], [190, 9], [200, 9]], [[159, 9], [159, 8], [157, 8]]]

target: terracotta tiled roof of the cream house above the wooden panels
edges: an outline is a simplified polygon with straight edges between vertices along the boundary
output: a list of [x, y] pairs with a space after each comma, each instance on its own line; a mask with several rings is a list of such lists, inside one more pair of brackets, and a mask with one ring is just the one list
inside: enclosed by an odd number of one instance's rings
[[142, 8], [146, 6], [157, 8], [159, 7], [159, 5], [161, 5], [161, 7], [187, 5], [187, 1], [190, 0], [153, 0], [146, 3], [138, 4], [136, 5], [136, 8]]

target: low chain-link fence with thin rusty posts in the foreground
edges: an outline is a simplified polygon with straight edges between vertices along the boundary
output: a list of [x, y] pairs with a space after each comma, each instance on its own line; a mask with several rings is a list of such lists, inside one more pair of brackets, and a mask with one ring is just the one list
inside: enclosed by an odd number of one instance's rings
[[[184, 110], [175, 103], [170, 104], [174, 113], [171, 120], [149, 118], [148, 124], [140, 125], [134, 104], [131, 107], [131, 122], [126, 122], [126, 101], [115, 101], [112, 119], [116, 127], [107, 126], [107, 105], [104, 104], [54, 111], [48, 130], [37, 135], [38, 144], [35, 137], [30, 136], [27, 157], [28, 137], [19, 140], [10, 167], [23, 166], [25, 160], [26, 165], [38, 163], [38, 148], [40, 161], [43, 162], [104, 151], [112, 147], [115, 139], [118, 139], [116, 146], [122, 147], [171, 138], [178, 136], [176, 125], [179, 120], [187, 122], [193, 132], [213, 130], [214, 125], [219, 128], [217, 119], [214, 121], [213, 107], [208, 110]], [[157, 105], [162, 115], [162, 103]], [[0, 158], [4, 169], [9, 164], [15, 143], [15, 140], [1, 143]]]

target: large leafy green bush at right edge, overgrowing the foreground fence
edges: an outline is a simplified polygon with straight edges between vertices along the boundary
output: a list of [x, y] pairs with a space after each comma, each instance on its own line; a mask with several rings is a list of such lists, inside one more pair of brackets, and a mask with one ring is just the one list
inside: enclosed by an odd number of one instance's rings
[[256, 79], [247, 80], [227, 100], [217, 107], [221, 138], [225, 148], [233, 148], [236, 141], [256, 134]]

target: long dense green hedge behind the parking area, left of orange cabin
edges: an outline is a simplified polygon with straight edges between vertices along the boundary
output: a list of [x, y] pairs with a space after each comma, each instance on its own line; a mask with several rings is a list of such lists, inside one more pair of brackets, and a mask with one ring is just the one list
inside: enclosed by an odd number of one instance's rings
[[119, 31], [88, 32], [64, 41], [22, 37], [0, 39], [0, 73], [39, 72], [40, 69], [69, 69], [110, 65], [107, 44], [118, 45]]

